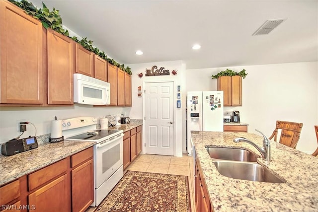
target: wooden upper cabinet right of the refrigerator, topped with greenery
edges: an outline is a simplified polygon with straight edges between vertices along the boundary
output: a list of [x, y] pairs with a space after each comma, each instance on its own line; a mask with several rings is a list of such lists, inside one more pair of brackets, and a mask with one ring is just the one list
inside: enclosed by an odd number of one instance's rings
[[217, 89], [224, 92], [224, 106], [242, 106], [241, 76], [220, 76]]

